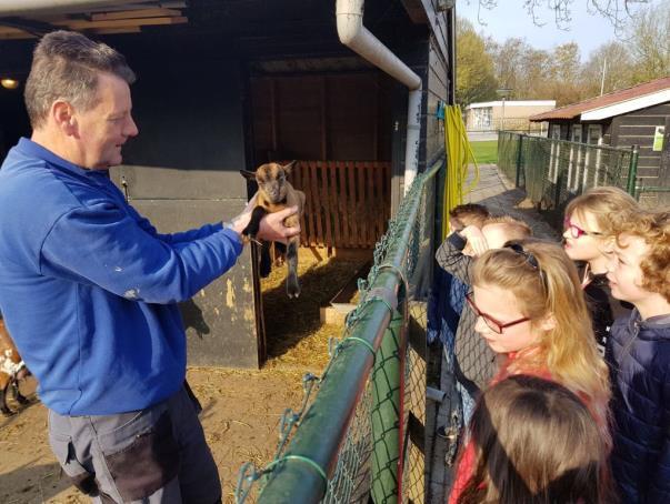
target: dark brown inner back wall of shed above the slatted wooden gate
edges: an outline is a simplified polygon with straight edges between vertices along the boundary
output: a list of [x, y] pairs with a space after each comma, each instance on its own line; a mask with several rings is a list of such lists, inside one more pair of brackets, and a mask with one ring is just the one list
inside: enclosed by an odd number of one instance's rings
[[389, 161], [390, 88], [380, 72], [252, 78], [254, 163]]

